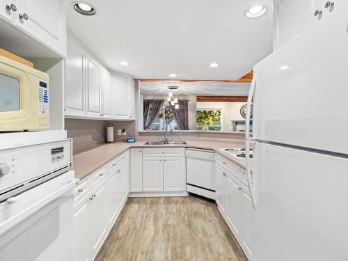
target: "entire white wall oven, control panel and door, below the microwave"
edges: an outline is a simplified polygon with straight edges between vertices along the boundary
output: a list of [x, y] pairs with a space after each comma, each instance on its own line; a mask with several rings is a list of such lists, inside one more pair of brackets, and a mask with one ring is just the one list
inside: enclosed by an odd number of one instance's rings
[[73, 259], [70, 143], [65, 139], [0, 151], [1, 261]]

